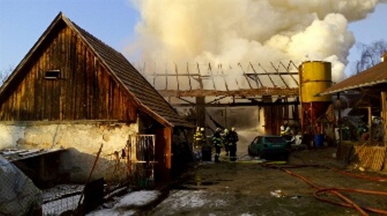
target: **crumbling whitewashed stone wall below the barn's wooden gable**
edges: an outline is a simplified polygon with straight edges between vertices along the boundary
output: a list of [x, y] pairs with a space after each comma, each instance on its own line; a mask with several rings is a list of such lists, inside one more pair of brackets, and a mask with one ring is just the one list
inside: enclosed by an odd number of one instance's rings
[[137, 132], [138, 124], [0, 124], [0, 149], [66, 149], [60, 158], [60, 173], [67, 173], [71, 181], [84, 182], [102, 146], [91, 180], [120, 181], [126, 177], [122, 149]]

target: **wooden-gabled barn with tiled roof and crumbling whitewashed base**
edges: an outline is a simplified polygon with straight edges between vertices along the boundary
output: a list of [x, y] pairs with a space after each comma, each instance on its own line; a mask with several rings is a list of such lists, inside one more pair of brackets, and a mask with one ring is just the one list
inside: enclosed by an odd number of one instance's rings
[[0, 88], [0, 148], [64, 149], [62, 180], [121, 181], [133, 163], [169, 179], [172, 146], [188, 145], [190, 127], [124, 55], [62, 12]]

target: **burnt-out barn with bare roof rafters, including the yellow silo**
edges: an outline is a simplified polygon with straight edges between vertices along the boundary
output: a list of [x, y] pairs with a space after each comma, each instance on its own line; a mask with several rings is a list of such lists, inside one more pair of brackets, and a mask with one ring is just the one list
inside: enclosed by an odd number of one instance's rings
[[291, 126], [293, 135], [308, 135], [305, 142], [312, 147], [314, 136], [333, 136], [332, 99], [318, 96], [332, 85], [331, 67], [328, 61], [305, 61], [300, 66], [292, 61], [265, 66], [250, 62], [238, 67], [197, 63], [194, 70], [187, 64], [181, 71], [175, 64], [173, 72], [144, 73], [161, 95], [208, 133], [217, 127], [236, 127], [241, 149], [258, 134], [279, 135], [283, 124]]

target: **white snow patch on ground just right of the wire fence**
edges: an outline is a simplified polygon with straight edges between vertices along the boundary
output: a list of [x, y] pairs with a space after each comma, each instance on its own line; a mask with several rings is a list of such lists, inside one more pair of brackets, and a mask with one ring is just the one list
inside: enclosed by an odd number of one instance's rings
[[112, 208], [93, 210], [87, 216], [130, 216], [136, 212], [130, 208], [144, 206], [157, 199], [161, 193], [158, 190], [140, 190], [128, 193], [117, 199]]

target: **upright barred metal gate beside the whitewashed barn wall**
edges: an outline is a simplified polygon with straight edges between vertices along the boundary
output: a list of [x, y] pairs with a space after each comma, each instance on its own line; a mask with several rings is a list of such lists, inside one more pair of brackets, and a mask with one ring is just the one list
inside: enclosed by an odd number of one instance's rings
[[128, 170], [132, 186], [149, 188], [154, 183], [155, 135], [131, 135], [128, 141]]

